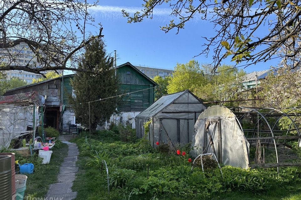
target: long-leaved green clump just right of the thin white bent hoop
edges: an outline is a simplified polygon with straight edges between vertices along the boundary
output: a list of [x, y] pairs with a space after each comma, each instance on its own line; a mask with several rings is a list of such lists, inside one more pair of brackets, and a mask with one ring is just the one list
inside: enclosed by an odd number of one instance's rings
[[114, 172], [110, 173], [110, 183], [111, 187], [124, 187], [129, 181], [134, 177], [134, 170], [129, 169], [116, 169]]

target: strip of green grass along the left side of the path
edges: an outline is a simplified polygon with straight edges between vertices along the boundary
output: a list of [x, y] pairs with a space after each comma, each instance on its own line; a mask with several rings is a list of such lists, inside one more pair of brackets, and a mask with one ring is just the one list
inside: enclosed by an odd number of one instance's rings
[[45, 197], [49, 185], [57, 182], [59, 168], [67, 155], [67, 152], [68, 146], [64, 143], [57, 142], [53, 148], [50, 163], [46, 165], [41, 164], [41, 159], [37, 155], [29, 158], [16, 156], [16, 160], [19, 160], [21, 165], [30, 162], [34, 163], [34, 173], [26, 174], [28, 178], [24, 196], [36, 198]]

